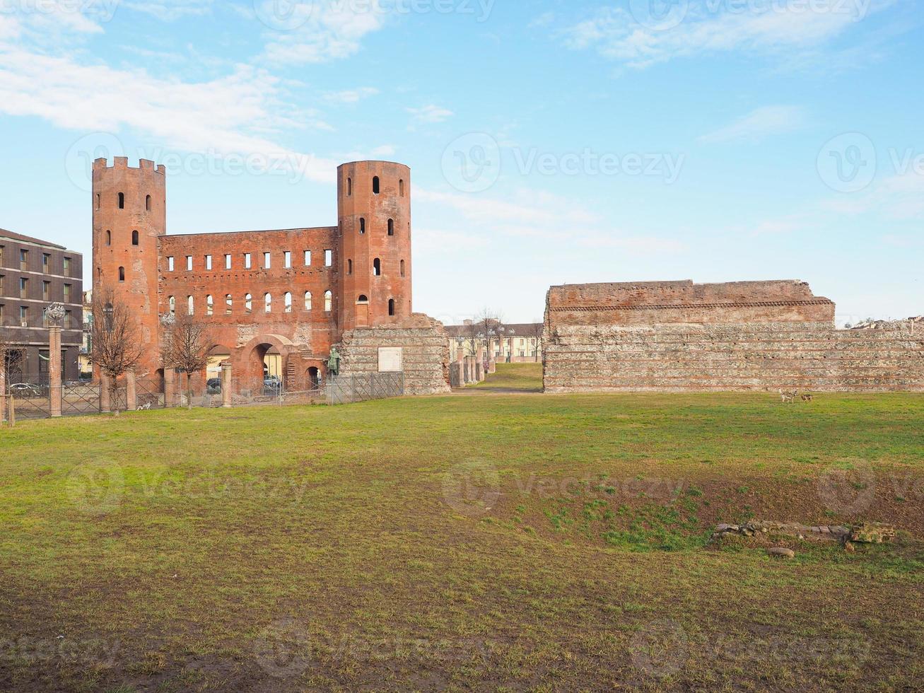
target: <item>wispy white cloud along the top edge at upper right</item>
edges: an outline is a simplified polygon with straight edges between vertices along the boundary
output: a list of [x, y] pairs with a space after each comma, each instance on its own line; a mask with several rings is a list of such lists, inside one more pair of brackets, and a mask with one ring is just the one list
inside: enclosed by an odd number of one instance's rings
[[[894, 1], [750, 3], [733, 11], [726, 3], [690, 0], [674, 5], [660, 22], [641, 13], [633, 16], [621, 7], [607, 7], [561, 36], [570, 48], [592, 48], [637, 68], [699, 54], [785, 53], [827, 43]], [[644, 6], [630, 4], [631, 9]]]

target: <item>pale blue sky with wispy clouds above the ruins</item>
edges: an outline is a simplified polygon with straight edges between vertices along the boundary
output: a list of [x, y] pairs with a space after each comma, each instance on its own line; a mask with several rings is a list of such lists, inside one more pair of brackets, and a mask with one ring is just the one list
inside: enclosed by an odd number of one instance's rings
[[334, 225], [413, 169], [415, 310], [803, 279], [924, 312], [924, 8], [899, 0], [0, 0], [0, 227], [91, 249], [89, 161], [168, 232]]

